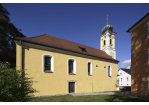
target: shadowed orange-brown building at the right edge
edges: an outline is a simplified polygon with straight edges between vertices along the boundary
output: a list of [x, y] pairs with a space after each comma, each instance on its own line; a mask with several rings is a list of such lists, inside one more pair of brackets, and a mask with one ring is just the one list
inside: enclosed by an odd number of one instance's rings
[[131, 33], [131, 93], [149, 96], [149, 13], [127, 32]]

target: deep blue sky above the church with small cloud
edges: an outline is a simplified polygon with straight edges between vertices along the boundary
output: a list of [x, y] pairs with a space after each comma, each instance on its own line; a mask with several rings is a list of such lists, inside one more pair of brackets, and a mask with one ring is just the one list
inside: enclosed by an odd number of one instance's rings
[[149, 12], [149, 3], [2, 3], [10, 22], [27, 37], [49, 34], [100, 49], [102, 28], [113, 26], [118, 68], [131, 64], [131, 34], [126, 31]]

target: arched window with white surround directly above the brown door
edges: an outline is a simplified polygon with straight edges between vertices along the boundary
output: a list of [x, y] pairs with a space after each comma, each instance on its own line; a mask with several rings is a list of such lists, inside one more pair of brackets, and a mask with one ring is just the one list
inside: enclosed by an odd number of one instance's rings
[[73, 58], [68, 59], [68, 74], [69, 75], [76, 74], [76, 60]]

